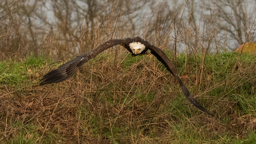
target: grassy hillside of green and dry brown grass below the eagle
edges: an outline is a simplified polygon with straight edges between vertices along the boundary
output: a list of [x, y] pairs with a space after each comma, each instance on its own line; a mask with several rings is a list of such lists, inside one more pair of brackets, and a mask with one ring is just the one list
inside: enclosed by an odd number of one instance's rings
[[[173, 55], [165, 51], [173, 61]], [[256, 142], [256, 57], [220, 53], [176, 57], [191, 105], [153, 56], [104, 53], [67, 81], [38, 86], [64, 62], [44, 57], [0, 62], [1, 143]]]

